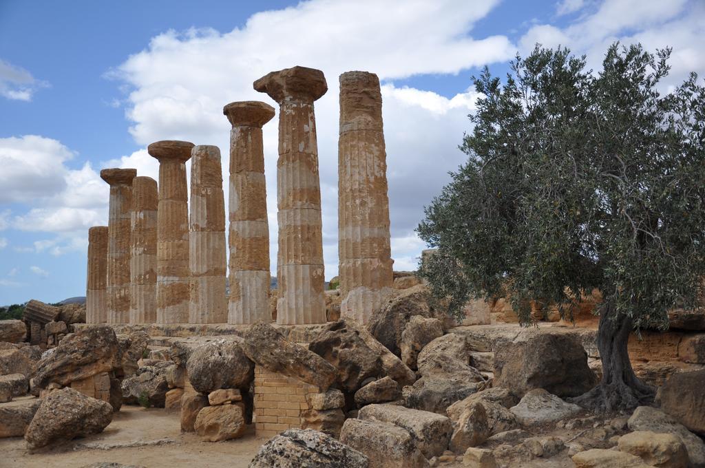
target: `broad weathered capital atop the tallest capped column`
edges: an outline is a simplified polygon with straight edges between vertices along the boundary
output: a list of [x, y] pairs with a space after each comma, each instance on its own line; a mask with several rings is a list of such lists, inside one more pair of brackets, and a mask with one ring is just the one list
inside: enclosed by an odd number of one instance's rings
[[266, 92], [279, 104], [286, 100], [313, 102], [328, 91], [321, 70], [301, 66], [267, 73], [252, 85], [255, 91]]

